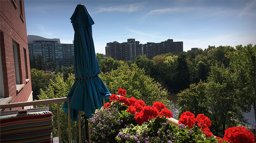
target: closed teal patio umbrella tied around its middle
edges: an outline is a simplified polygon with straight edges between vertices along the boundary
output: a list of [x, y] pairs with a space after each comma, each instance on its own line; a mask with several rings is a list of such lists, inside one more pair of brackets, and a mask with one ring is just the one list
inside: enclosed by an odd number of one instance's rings
[[[84, 111], [85, 116], [91, 118], [95, 110], [102, 107], [102, 99], [110, 96], [111, 93], [98, 77], [100, 69], [92, 37], [93, 19], [81, 4], [76, 6], [70, 19], [75, 31], [75, 82], [67, 97], [70, 100], [70, 117], [76, 121], [79, 110]], [[67, 102], [64, 102], [62, 109], [68, 113]]]

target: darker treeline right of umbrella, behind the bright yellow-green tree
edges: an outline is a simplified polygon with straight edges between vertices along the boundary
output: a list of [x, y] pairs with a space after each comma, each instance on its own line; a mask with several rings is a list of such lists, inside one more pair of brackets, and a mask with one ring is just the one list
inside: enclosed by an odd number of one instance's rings
[[[179, 113], [205, 114], [214, 135], [223, 136], [225, 129], [246, 123], [242, 112], [250, 112], [252, 105], [255, 112], [255, 47], [209, 46], [153, 59], [138, 56], [126, 63], [144, 69], [169, 93], [179, 93]], [[111, 73], [124, 63], [97, 56], [102, 72]]]

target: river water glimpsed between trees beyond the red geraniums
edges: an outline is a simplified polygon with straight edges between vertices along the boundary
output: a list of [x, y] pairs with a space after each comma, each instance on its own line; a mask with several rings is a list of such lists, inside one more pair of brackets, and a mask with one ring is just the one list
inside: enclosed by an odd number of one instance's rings
[[[177, 100], [178, 100], [178, 96], [175, 93], [169, 94], [168, 99], [170, 101], [172, 101], [172, 103], [174, 104], [173, 106], [175, 107], [175, 109], [171, 110], [173, 112], [173, 117], [177, 118], [178, 116], [178, 109], [177, 109]], [[254, 110], [253, 110], [253, 106], [251, 106], [251, 111], [249, 113], [243, 113], [245, 119], [247, 119], [248, 124], [255, 124], [255, 114], [254, 114]]]

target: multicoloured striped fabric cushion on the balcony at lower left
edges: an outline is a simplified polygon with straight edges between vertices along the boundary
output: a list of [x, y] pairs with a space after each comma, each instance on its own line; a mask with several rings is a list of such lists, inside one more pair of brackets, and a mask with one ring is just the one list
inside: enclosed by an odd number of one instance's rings
[[52, 112], [32, 112], [0, 116], [0, 142], [53, 142]]

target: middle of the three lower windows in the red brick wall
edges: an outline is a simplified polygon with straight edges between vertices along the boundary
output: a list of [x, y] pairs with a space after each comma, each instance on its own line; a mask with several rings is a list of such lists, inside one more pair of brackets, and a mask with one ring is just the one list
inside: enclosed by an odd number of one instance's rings
[[15, 78], [16, 84], [20, 84], [20, 73], [19, 73], [19, 63], [18, 63], [18, 50], [17, 43], [12, 40], [13, 58], [14, 58], [14, 68], [15, 68]]

